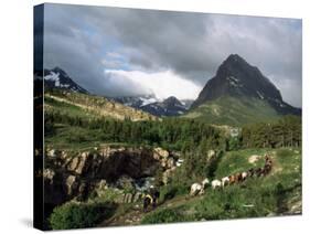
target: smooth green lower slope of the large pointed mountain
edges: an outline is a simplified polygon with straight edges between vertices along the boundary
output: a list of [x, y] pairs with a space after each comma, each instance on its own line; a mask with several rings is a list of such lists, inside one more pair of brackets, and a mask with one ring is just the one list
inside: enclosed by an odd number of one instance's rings
[[191, 109], [185, 118], [200, 118], [209, 124], [240, 126], [258, 121], [272, 121], [280, 116], [258, 98], [222, 96]]

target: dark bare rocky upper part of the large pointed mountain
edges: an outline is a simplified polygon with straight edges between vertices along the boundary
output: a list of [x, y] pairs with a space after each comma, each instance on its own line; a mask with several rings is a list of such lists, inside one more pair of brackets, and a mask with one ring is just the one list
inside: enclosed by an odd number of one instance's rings
[[224, 96], [257, 98], [269, 103], [278, 113], [299, 113], [282, 100], [279, 89], [256, 66], [238, 54], [231, 54], [218, 66], [216, 75], [207, 81], [191, 108]]

